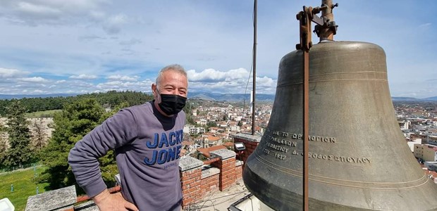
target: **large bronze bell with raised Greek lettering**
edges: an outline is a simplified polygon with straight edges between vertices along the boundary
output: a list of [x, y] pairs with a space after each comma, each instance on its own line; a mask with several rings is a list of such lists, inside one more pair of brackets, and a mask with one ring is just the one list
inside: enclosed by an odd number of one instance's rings
[[437, 210], [437, 185], [402, 136], [380, 46], [322, 41], [309, 53], [309, 137], [302, 137], [302, 51], [279, 65], [266, 132], [245, 186], [274, 210], [302, 210], [302, 139], [309, 139], [309, 210]]

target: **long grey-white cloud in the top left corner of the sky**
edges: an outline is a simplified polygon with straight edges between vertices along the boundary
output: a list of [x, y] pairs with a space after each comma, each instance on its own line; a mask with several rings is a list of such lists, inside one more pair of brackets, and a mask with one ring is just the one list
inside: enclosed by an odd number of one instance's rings
[[107, 15], [107, 0], [1, 0], [0, 16], [24, 25], [78, 25], [82, 20], [99, 25], [108, 34], [117, 34], [128, 23], [125, 14]]

